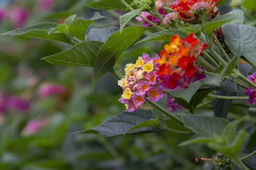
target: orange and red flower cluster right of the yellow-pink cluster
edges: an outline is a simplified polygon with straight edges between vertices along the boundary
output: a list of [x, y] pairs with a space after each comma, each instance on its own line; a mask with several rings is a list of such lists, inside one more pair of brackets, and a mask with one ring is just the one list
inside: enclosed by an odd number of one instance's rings
[[196, 70], [202, 72], [194, 62], [207, 46], [194, 38], [193, 33], [184, 39], [181, 39], [178, 34], [172, 36], [171, 42], [165, 44], [164, 50], [160, 51], [161, 58], [156, 59], [160, 64], [157, 75], [169, 75], [168, 88], [174, 87], [176, 81], [185, 76], [183, 78], [183, 87], [185, 87], [188, 84], [187, 80], [194, 76]]

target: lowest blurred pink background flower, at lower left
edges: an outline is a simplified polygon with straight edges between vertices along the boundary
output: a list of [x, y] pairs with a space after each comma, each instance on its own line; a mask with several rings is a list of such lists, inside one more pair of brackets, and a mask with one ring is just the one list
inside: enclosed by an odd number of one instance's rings
[[31, 135], [36, 133], [38, 130], [46, 127], [49, 123], [49, 119], [31, 119], [27, 122], [24, 127], [22, 134], [23, 135]]

